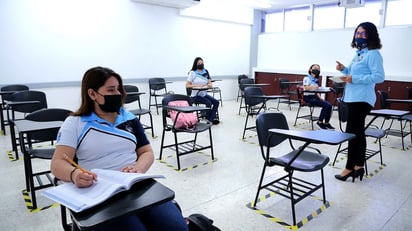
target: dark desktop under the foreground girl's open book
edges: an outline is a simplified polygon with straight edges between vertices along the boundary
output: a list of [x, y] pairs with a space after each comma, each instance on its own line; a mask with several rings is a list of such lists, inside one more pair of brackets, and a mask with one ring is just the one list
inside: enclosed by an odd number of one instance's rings
[[71, 212], [71, 215], [80, 230], [88, 230], [124, 215], [138, 214], [144, 209], [171, 201], [174, 197], [175, 194], [171, 189], [154, 179], [147, 179], [100, 205], [80, 213]]

